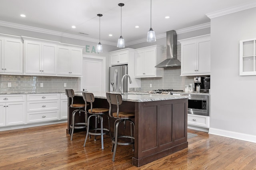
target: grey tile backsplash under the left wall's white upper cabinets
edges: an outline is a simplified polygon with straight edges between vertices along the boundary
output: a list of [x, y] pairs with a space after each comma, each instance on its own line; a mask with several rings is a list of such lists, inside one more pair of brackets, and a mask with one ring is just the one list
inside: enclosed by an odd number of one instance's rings
[[[11, 83], [11, 87], [8, 87], [8, 83]], [[43, 87], [40, 87], [40, 83], [43, 83]], [[0, 93], [65, 92], [65, 89], [78, 91], [79, 85], [78, 77], [0, 75]]]

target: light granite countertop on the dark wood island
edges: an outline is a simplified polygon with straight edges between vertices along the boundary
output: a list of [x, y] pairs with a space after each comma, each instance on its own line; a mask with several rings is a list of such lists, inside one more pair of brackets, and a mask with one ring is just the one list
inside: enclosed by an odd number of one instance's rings
[[[82, 92], [75, 93], [76, 96], [82, 96]], [[94, 96], [99, 99], [106, 99], [106, 94], [102, 96]], [[132, 102], [148, 102], [148, 101], [162, 101], [162, 100], [174, 100], [174, 99], [186, 99], [187, 96], [175, 96], [175, 95], [159, 95], [149, 93], [124, 93], [122, 94], [123, 101]]]

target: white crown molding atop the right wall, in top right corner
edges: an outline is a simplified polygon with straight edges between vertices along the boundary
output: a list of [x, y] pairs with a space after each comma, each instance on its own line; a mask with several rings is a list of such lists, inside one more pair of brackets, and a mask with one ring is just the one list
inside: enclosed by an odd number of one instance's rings
[[226, 8], [226, 9], [219, 10], [219, 11], [216, 11], [216, 12], [211, 12], [211, 13], [206, 14], [206, 16], [208, 18], [212, 19], [212, 18], [216, 18], [216, 17], [219, 17], [219, 16], [224, 16], [224, 15], [227, 15], [227, 14], [232, 14], [234, 12], [239, 12], [239, 11], [242, 11], [242, 10], [247, 10], [247, 9], [254, 8], [254, 7], [256, 7], [255, 0], [247, 2], [247, 3], [244, 3], [244, 4], [241, 4], [241, 5], [232, 6], [230, 8]]

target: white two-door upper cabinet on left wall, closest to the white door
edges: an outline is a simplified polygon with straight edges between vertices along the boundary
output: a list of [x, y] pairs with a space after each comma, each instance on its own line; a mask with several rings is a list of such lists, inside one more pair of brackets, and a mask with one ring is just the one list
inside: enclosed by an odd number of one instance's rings
[[82, 76], [82, 48], [58, 46], [57, 74]]

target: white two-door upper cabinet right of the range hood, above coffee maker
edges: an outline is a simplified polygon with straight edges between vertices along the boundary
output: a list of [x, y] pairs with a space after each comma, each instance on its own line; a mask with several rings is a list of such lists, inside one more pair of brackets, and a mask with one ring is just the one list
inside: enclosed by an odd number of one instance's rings
[[181, 75], [210, 75], [210, 35], [179, 40]]

